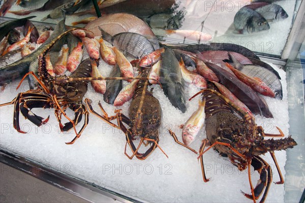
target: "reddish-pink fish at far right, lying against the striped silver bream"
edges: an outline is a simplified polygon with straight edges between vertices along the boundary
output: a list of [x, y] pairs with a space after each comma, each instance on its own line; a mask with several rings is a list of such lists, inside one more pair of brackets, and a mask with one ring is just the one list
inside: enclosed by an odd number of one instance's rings
[[238, 79], [240, 79], [243, 83], [247, 84], [253, 90], [257, 91], [258, 93], [274, 98], [276, 94], [268, 87], [268, 85], [261, 81], [257, 80], [253, 77], [249, 77], [246, 74], [243, 74], [239, 70], [235, 69], [232, 65], [226, 63], [227, 67], [236, 75]]

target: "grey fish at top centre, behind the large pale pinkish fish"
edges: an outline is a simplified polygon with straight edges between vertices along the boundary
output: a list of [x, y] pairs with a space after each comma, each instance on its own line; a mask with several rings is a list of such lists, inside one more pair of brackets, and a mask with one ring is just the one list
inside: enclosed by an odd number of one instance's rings
[[179, 27], [174, 17], [170, 13], [156, 13], [148, 18], [144, 18], [151, 28], [163, 30], [177, 30]]

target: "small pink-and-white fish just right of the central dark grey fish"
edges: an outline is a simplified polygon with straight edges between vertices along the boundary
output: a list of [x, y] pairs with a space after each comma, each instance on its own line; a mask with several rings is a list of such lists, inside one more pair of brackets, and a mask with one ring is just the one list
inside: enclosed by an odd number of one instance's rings
[[181, 74], [182, 74], [182, 77], [185, 82], [187, 82], [189, 84], [194, 84], [196, 86], [196, 88], [198, 88], [200, 90], [204, 90], [207, 88], [207, 83], [206, 83], [206, 80], [204, 79], [204, 77], [188, 70], [185, 67], [185, 64], [184, 64], [182, 58], [180, 59], [179, 66], [181, 68]]

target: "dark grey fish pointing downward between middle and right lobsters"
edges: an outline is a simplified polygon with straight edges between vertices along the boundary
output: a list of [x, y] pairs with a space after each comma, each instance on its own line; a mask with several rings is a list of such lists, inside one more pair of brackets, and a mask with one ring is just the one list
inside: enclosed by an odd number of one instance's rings
[[161, 55], [160, 83], [164, 94], [174, 107], [184, 113], [187, 110], [186, 95], [179, 62], [170, 48], [165, 48], [164, 53], [161, 53]]

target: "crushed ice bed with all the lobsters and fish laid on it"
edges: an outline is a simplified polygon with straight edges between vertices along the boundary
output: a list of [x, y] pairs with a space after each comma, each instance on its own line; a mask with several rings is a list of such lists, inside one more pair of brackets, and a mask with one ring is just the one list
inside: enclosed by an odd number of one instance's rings
[[284, 70], [236, 44], [162, 44], [126, 13], [28, 19], [0, 25], [1, 148], [141, 201], [284, 200]]

